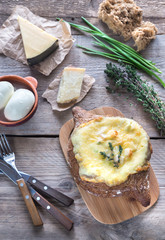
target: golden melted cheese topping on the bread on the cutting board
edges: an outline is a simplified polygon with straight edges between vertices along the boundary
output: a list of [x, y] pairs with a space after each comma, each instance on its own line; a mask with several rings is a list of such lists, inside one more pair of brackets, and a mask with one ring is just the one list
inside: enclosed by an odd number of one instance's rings
[[[82, 180], [115, 186], [125, 182], [146, 163], [149, 137], [131, 119], [100, 117], [91, 120], [76, 128], [71, 140]], [[113, 146], [113, 161], [100, 154], [111, 155], [109, 142]], [[114, 167], [119, 159], [119, 146], [122, 147], [120, 163]]]

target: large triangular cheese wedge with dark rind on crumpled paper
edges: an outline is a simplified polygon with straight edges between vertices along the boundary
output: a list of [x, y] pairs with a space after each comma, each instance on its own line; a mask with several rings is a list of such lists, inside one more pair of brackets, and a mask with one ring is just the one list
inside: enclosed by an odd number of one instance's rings
[[28, 20], [18, 17], [26, 59], [29, 65], [43, 61], [58, 47], [58, 39]]

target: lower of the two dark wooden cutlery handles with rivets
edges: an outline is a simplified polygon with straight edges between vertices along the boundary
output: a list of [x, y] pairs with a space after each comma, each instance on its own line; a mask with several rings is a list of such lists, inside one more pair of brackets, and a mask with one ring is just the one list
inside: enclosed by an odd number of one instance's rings
[[52, 214], [67, 230], [71, 230], [73, 222], [67, 218], [60, 210], [49, 203], [43, 196], [36, 192], [33, 196], [38, 204], [45, 208], [50, 214]]

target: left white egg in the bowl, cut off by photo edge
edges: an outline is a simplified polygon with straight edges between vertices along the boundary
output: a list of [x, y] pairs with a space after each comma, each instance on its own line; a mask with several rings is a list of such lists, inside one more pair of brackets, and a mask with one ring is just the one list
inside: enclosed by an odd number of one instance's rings
[[11, 83], [0, 82], [0, 109], [4, 108], [14, 93], [14, 87]]

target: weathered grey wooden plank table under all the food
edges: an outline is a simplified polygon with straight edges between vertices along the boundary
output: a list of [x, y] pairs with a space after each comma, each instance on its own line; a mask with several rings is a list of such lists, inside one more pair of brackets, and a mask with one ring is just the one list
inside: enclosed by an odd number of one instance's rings
[[[109, 30], [97, 19], [97, 9], [101, 0], [1, 0], [0, 24], [11, 14], [16, 4], [25, 5], [35, 14], [55, 19], [64, 19], [75, 23], [81, 22], [80, 16], [86, 17], [105, 32]], [[165, 2], [161, 0], [139, 0], [145, 20], [151, 20], [158, 27], [158, 36], [143, 55], [153, 60], [162, 70], [165, 79]], [[84, 46], [91, 45], [91, 39], [72, 31], [76, 43]], [[111, 33], [111, 32], [110, 32]], [[112, 36], [114, 36], [111, 33]], [[115, 36], [116, 37], [116, 36]], [[118, 37], [117, 37], [118, 38]], [[132, 44], [132, 43], [131, 43]], [[18, 127], [2, 127], [0, 132], [9, 135], [12, 148], [16, 152], [16, 163], [20, 170], [28, 172], [53, 188], [57, 188], [75, 199], [75, 204], [69, 208], [54, 202], [67, 216], [75, 222], [71, 232], [66, 231], [46, 211], [39, 207], [44, 220], [42, 228], [35, 228], [27, 213], [19, 190], [6, 177], [0, 176], [0, 239], [44, 239], [44, 240], [163, 240], [165, 239], [165, 139], [161, 138], [154, 122], [145, 113], [141, 104], [130, 97], [125, 91], [109, 94], [105, 90], [104, 76], [107, 59], [82, 54], [75, 46], [63, 63], [45, 77], [15, 60], [0, 55], [0, 75], [28, 75], [38, 79], [39, 106], [36, 114], [27, 123]], [[152, 167], [160, 186], [160, 197], [154, 207], [147, 212], [117, 225], [103, 225], [97, 222], [85, 206], [77, 187], [70, 175], [59, 145], [60, 127], [72, 117], [71, 110], [62, 113], [53, 112], [51, 106], [41, 96], [49, 83], [67, 65], [85, 67], [87, 73], [95, 77], [96, 83], [78, 105], [87, 110], [99, 106], [113, 106], [121, 110], [125, 116], [137, 120], [148, 132], [153, 145]], [[159, 95], [165, 100], [165, 90], [156, 81], [146, 77], [153, 83]], [[127, 99], [129, 96], [129, 99]]]

